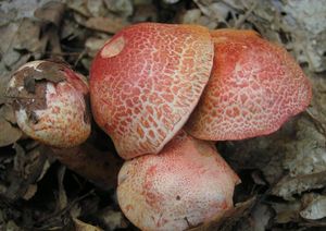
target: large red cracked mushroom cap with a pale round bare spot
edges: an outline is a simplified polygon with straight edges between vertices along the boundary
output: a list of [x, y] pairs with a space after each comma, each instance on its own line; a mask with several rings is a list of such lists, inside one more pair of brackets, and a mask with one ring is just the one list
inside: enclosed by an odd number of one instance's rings
[[125, 159], [159, 153], [196, 107], [213, 65], [209, 31], [141, 23], [124, 28], [95, 58], [96, 122]]

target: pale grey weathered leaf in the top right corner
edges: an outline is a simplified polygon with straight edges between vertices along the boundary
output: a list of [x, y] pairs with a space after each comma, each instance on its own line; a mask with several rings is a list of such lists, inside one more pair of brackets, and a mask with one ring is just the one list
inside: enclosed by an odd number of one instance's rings
[[293, 49], [300, 62], [308, 62], [310, 70], [326, 70], [326, 4], [325, 1], [286, 1], [283, 28], [291, 33]]

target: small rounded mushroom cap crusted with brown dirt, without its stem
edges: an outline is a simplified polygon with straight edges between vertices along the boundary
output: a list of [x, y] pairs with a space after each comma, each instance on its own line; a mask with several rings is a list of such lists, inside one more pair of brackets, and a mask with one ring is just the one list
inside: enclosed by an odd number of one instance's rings
[[20, 129], [34, 139], [67, 148], [90, 134], [87, 81], [63, 63], [24, 64], [10, 80], [7, 95], [14, 99]]

